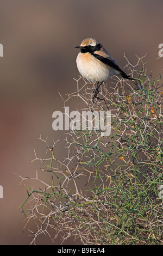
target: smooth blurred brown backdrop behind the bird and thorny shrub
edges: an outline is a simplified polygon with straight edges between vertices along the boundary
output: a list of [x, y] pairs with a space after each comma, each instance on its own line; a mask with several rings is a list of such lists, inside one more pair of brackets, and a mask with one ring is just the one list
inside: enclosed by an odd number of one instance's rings
[[[45, 145], [64, 132], [52, 130], [52, 113], [62, 111], [64, 96], [76, 90], [78, 70], [74, 48], [86, 37], [101, 41], [123, 69], [126, 60], [136, 64], [135, 54], [149, 62], [153, 78], [163, 70], [157, 59], [162, 39], [163, 2], [160, 0], [1, 0], [1, 179], [0, 244], [28, 245], [28, 228], [22, 233], [24, 216], [18, 210], [27, 196], [21, 179], [35, 176], [33, 149], [45, 154]], [[109, 81], [108, 81], [109, 83]], [[64, 157], [64, 142], [58, 156]], [[40, 237], [38, 244], [50, 244]], [[55, 241], [60, 243], [60, 241]], [[73, 243], [73, 241], [72, 241]]]

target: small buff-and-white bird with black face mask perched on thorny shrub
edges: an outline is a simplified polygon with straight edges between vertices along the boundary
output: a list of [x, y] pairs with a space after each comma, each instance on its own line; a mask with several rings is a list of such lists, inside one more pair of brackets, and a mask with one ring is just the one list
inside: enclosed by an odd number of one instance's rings
[[80, 46], [76, 46], [75, 48], [80, 49], [76, 59], [80, 75], [91, 83], [97, 82], [96, 90], [93, 91], [95, 93], [93, 101], [99, 93], [101, 84], [111, 76], [120, 76], [128, 80], [133, 80], [137, 86], [136, 78], [127, 75], [120, 69], [115, 60], [105, 50], [102, 43], [95, 38], [86, 38], [81, 42]]

